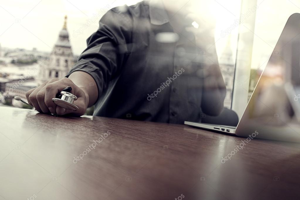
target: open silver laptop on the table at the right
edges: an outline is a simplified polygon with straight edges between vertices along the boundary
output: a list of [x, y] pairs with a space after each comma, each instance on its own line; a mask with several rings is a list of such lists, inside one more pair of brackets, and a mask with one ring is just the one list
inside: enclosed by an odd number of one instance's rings
[[294, 13], [283, 28], [238, 125], [190, 121], [184, 124], [251, 139], [300, 142], [299, 121], [300, 13]]

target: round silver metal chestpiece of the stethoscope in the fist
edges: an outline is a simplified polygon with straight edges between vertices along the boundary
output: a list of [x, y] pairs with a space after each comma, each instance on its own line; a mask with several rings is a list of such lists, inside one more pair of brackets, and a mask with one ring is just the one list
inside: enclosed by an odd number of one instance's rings
[[60, 98], [52, 99], [53, 103], [67, 110], [78, 110], [78, 107], [75, 104], [73, 104], [73, 102], [77, 100], [77, 97], [74, 94], [71, 94], [70, 92], [66, 92], [64, 90], [62, 90], [60, 94]]

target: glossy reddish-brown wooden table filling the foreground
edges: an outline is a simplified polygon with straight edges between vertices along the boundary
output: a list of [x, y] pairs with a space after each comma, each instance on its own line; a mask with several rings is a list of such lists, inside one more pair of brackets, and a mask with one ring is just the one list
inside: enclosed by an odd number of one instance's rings
[[252, 139], [221, 163], [244, 138], [11, 107], [0, 113], [0, 200], [300, 199], [297, 143]]

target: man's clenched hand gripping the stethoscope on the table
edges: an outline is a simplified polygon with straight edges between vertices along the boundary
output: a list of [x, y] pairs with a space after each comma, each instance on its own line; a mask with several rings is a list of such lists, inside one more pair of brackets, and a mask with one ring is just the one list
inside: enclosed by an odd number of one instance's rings
[[[76, 95], [78, 99], [74, 101], [74, 104], [78, 106], [79, 110], [71, 111], [66, 110], [53, 103], [52, 98], [55, 98], [56, 94], [61, 90], [70, 86], [72, 88], [71, 93]], [[68, 78], [63, 79], [51, 79], [50, 81], [44, 82], [37, 88], [33, 88], [26, 92], [26, 98], [28, 103], [35, 107], [38, 112], [42, 113], [56, 113], [57, 115], [66, 115], [71, 113], [75, 116], [84, 115], [89, 97], [84, 87], [78, 87]]]

